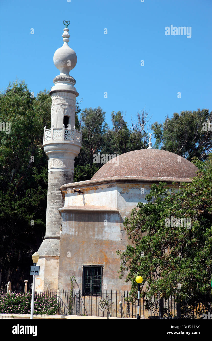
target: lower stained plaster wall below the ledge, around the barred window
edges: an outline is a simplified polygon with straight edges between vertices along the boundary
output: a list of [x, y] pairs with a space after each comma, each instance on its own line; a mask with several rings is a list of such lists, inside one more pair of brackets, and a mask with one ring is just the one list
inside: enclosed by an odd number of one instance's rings
[[124, 250], [125, 245], [120, 214], [76, 211], [61, 215], [65, 221], [60, 238], [59, 288], [70, 288], [70, 276], [75, 276], [82, 290], [82, 265], [102, 265], [103, 288], [107, 284], [108, 290], [126, 290], [126, 283], [117, 274], [116, 251]]

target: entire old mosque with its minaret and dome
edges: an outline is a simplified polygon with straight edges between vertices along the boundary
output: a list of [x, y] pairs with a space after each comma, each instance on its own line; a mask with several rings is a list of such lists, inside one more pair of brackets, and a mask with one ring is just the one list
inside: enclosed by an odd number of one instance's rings
[[83, 295], [101, 295], [107, 290], [129, 290], [118, 278], [116, 251], [130, 243], [123, 228], [125, 217], [138, 202], [145, 203], [152, 183], [191, 182], [198, 170], [188, 160], [151, 147], [134, 150], [105, 163], [91, 180], [74, 181], [74, 160], [83, 143], [75, 127], [75, 79], [69, 75], [77, 63], [68, 46], [64, 28], [63, 46], [53, 61], [60, 74], [51, 88], [51, 128], [44, 128], [43, 147], [48, 155], [46, 235], [38, 250], [37, 289], [70, 288], [70, 277]]

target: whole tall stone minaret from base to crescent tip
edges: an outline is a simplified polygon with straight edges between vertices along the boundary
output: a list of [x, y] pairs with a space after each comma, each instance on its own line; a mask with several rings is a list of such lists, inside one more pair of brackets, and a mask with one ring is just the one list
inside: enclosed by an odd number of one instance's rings
[[61, 217], [58, 208], [64, 206], [60, 187], [74, 182], [74, 159], [81, 149], [81, 131], [75, 129], [76, 81], [69, 75], [77, 63], [74, 50], [68, 46], [70, 21], [63, 21], [63, 46], [54, 53], [53, 61], [60, 74], [53, 79], [49, 94], [52, 98], [51, 128], [44, 127], [43, 147], [49, 158], [46, 235], [38, 253], [40, 275], [36, 288], [58, 288], [58, 266]]

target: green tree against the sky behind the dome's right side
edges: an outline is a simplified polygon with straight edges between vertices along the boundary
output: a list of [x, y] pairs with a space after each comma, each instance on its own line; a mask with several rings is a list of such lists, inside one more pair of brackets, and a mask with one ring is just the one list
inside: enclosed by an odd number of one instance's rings
[[212, 148], [211, 131], [205, 129], [208, 121], [212, 123], [212, 112], [198, 109], [182, 111], [180, 115], [174, 113], [172, 118], [166, 117], [164, 123], [155, 122], [151, 126], [156, 138], [155, 147], [181, 155], [189, 161], [193, 157], [206, 160]]

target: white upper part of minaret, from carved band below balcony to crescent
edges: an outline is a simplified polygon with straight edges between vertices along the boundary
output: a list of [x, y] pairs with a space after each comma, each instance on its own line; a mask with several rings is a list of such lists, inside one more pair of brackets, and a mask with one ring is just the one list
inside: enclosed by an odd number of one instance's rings
[[[51, 95], [51, 127], [44, 127], [44, 151], [49, 157], [49, 171], [52, 172], [59, 167], [54, 167], [53, 158], [60, 158], [62, 151], [64, 158], [70, 162], [65, 163], [70, 166], [62, 167], [63, 170], [74, 172], [74, 158], [79, 154], [81, 148], [81, 131], [75, 127], [76, 97], [79, 95], [75, 88], [76, 80], [69, 75], [70, 70], [74, 69], [77, 63], [77, 56], [74, 50], [68, 46], [69, 33], [68, 25], [70, 21], [64, 20], [63, 46], [58, 48], [53, 57], [54, 65], [60, 70], [60, 74], [53, 79], [54, 86], [49, 94]], [[59, 148], [60, 145], [60, 148]], [[53, 152], [53, 146], [56, 148]], [[59, 154], [60, 156], [58, 156]], [[65, 152], [66, 151], [66, 152]], [[71, 156], [70, 156], [70, 155]], [[54, 156], [53, 156], [54, 155]], [[66, 161], [67, 161], [66, 160]], [[59, 162], [57, 162], [58, 166]]]

